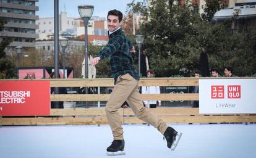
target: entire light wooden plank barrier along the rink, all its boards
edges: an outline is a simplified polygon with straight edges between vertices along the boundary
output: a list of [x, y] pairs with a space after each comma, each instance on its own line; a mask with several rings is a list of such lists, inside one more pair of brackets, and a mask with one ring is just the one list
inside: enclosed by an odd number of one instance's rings
[[[51, 79], [51, 87], [114, 86], [113, 79]], [[140, 86], [198, 86], [198, 78], [142, 78]], [[143, 100], [192, 101], [198, 94], [141, 94]], [[51, 94], [51, 101], [107, 101], [109, 94]], [[253, 114], [203, 115], [198, 108], [158, 107], [150, 109], [167, 123], [241, 123], [256, 122]], [[122, 123], [145, 123], [131, 109], [119, 109]], [[51, 109], [49, 116], [0, 117], [0, 125], [102, 125], [108, 124], [104, 108]]]

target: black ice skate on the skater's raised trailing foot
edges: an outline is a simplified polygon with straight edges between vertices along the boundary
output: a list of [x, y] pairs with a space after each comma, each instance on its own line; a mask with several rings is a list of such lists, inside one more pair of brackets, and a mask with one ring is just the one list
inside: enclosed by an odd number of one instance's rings
[[168, 127], [166, 131], [164, 131], [164, 138], [167, 141], [167, 147], [171, 148], [172, 151], [176, 148], [177, 144], [179, 143], [179, 139], [181, 139], [182, 133], [177, 133], [171, 127]]

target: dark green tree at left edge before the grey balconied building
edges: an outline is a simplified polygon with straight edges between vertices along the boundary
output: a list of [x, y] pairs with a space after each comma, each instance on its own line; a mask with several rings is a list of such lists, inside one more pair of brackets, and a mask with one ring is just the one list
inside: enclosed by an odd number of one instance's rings
[[[4, 30], [4, 25], [7, 23], [5, 19], [0, 17], [0, 31]], [[6, 46], [12, 42], [11, 38], [3, 38], [0, 43], [0, 78], [13, 78], [15, 72], [15, 66], [12, 60], [7, 59]]]

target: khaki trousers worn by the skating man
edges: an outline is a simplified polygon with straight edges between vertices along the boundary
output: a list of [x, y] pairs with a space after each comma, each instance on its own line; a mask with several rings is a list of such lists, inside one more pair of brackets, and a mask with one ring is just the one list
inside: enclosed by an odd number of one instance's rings
[[108, 118], [114, 140], [124, 139], [122, 123], [119, 118], [118, 109], [122, 106], [124, 101], [127, 101], [129, 106], [134, 111], [134, 114], [146, 123], [150, 123], [157, 128], [162, 134], [168, 128], [163, 120], [160, 120], [155, 114], [151, 113], [149, 109], [142, 104], [142, 99], [139, 93], [139, 81], [126, 73], [117, 78], [117, 83], [114, 86], [113, 92], [106, 104], [106, 117]]

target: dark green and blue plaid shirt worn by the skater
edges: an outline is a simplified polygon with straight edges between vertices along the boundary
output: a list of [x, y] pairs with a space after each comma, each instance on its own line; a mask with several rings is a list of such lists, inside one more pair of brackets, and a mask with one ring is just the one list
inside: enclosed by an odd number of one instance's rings
[[109, 35], [108, 45], [106, 45], [100, 52], [98, 52], [98, 57], [101, 60], [109, 57], [112, 77], [114, 78], [114, 83], [116, 84], [117, 78], [120, 75], [129, 73], [135, 80], [139, 80], [140, 77], [134, 68], [134, 60], [132, 54], [130, 53], [132, 49], [132, 44], [129, 38], [124, 34], [122, 29], [115, 31]]

